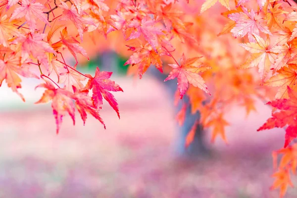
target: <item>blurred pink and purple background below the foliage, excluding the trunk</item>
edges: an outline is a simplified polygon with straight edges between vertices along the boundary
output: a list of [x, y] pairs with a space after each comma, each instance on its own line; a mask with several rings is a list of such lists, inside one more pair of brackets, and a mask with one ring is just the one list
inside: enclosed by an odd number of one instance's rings
[[[106, 102], [102, 125], [89, 116], [83, 126], [76, 112], [72, 125], [63, 118], [58, 135], [50, 103], [34, 104], [43, 89], [39, 80], [23, 79], [26, 102], [6, 87], [0, 88], [1, 198], [278, 198], [273, 183], [271, 152], [283, 146], [284, 131], [256, 132], [271, 109], [257, 102], [257, 112], [246, 117], [243, 107], [230, 109], [226, 135], [195, 157], [181, 152], [181, 129], [176, 109], [163, 79], [126, 76], [126, 61], [103, 54], [78, 67], [94, 75], [96, 66], [115, 65], [111, 79], [124, 93], [113, 93], [121, 119]], [[104, 103], [103, 102], [103, 103]], [[296, 178], [292, 178], [297, 186]], [[286, 198], [296, 198], [289, 189]]]

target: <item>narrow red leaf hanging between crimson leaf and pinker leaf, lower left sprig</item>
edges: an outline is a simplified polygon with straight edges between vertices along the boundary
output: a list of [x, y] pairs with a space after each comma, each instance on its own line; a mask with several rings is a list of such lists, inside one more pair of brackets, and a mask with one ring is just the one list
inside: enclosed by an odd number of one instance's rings
[[105, 124], [100, 117], [98, 110], [95, 108], [93, 100], [90, 96], [88, 96], [89, 90], [78, 90], [76, 87], [72, 86], [73, 88], [73, 99], [75, 99], [75, 105], [80, 113], [82, 120], [84, 121], [84, 125], [87, 119], [87, 112], [93, 115], [97, 120], [99, 120], [104, 129], [106, 129]]

